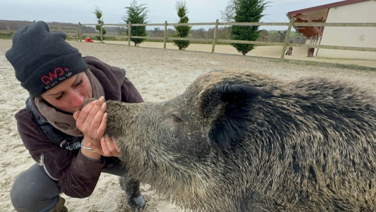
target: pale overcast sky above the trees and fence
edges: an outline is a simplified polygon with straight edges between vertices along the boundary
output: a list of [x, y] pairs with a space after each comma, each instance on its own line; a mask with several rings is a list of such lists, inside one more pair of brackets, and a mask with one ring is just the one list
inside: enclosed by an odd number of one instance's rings
[[[312, 6], [338, 2], [339, 0], [274, 0], [265, 9], [261, 22], [288, 22], [286, 13]], [[96, 23], [92, 13], [95, 6], [103, 11], [105, 23], [124, 23], [124, 7], [131, 0], [1, 0], [0, 20], [27, 20], [45, 22]], [[149, 8], [149, 23], [177, 23], [176, 0], [138, 0]], [[221, 20], [220, 11], [228, 0], [186, 0], [188, 18], [191, 23], [215, 22]], [[212, 27], [212, 26], [210, 26]], [[200, 28], [196, 26], [195, 28]], [[287, 29], [287, 26], [270, 26], [272, 29]], [[267, 26], [263, 29], [270, 29]]]

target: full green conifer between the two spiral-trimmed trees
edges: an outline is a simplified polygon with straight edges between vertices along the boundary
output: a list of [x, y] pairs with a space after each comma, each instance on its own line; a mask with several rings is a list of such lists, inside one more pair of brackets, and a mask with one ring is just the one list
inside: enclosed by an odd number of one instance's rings
[[[137, 5], [136, 0], [132, 0], [129, 7], [125, 7], [127, 9], [127, 14], [123, 16], [123, 20], [126, 23], [147, 23], [147, 12], [149, 12], [146, 4], [139, 4]], [[126, 33], [128, 34], [128, 28], [126, 29]], [[147, 36], [146, 33], [146, 26], [131, 26], [130, 27], [130, 35], [131, 36]], [[135, 43], [137, 46], [139, 43], [142, 43], [145, 39], [142, 38], [130, 38], [130, 40]]]

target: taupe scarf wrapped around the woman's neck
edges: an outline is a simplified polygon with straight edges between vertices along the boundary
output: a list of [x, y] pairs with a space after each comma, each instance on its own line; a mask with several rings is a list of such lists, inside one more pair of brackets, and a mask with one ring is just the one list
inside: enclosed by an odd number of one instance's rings
[[[91, 83], [92, 88], [92, 97], [99, 98], [101, 96], [105, 97], [105, 91], [103, 90], [102, 84], [100, 84], [99, 80], [97, 79], [92, 72], [87, 69], [86, 74], [88, 75], [89, 81]], [[83, 133], [79, 131], [76, 127], [76, 120], [74, 120], [72, 114], [64, 113], [57, 110], [55, 107], [50, 106], [47, 104], [45, 100], [40, 97], [35, 98], [35, 105], [38, 108], [40, 114], [54, 126], [56, 129], [64, 132], [68, 135], [73, 136], [83, 136]]]

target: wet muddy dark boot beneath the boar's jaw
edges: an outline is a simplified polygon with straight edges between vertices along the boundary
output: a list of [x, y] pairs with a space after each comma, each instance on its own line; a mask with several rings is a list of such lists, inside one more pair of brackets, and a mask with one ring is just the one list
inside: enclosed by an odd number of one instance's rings
[[121, 189], [127, 195], [127, 202], [134, 209], [144, 208], [146, 203], [143, 195], [140, 193], [140, 182], [135, 180], [127, 181], [125, 177], [119, 177]]

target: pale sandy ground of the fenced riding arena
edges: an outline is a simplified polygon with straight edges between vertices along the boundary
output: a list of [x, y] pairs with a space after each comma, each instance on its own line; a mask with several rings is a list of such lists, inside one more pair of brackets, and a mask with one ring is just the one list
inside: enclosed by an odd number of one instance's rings
[[[303, 65], [277, 59], [235, 54], [211, 54], [208, 52], [175, 51], [73, 41], [70, 43], [78, 48], [83, 55], [98, 57], [110, 65], [125, 68], [127, 77], [135, 84], [145, 101], [167, 100], [183, 92], [194, 78], [213, 69], [245, 69], [285, 81], [296, 80], [305, 76], [324, 76], [352, 81], [373, 91], [376, 88], [375, 71], [340, 69], [335, 66], [320, 64]], [[35, 163], [20, 140], [14, 119], [14, 114], [24, 107], [27, 92], [21, 88], [20, 83], [15, 79], [14, 70], [5, 58], [5, 51], [10, 47], [11, 40], [0, 40], [1, 211], [14, 211], [9, 197], [12, 183], [22, 171]], [[193, 45], [191, 48], [194, 47]], [[206, 48], [206, 46], [204, 47]], [[208, 51], [210, 50], [211, 48]], [[220, 46], [216, 46], [216, 51], [226, 52]], [[261, 51], [261, 48], [256, 48], [256, 51]], [[273, 52], [270, 48], [266, 48], [265, 52], [262, 53], [263, 56], [280, 54], [280, 51]], [[335, 62], [338, 63], [338, 61]], [[356, 61], [356, 63], [362, 64], [364, 62]], [[376, 67], [376, 61], [369, 63]], [[168, 200], [153, 193], [147, 184], [142, 186], [142, 193], [147, 200], [147, 207], [144, 211], [183, 211], [170, 204]], [[73, 212], [129, 211], [125, 194], [118, 184], [118, 178], [109, 174], [101, 175], [97, 187], [90, 197], [83, 199], [70, 198], [66, 195], [63, 195], [63, 197], [66, 198], [66, 206], [69, 211]]]

